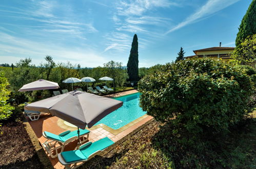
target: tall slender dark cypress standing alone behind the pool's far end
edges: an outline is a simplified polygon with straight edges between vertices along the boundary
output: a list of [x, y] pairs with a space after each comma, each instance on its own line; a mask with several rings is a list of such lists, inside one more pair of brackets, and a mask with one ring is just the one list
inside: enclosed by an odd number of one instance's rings
[[134, 34], [132, 44], [131, 44], [131, 51], [129, 60], [127, 63], [127, 73], [128, 73], [128, 80], [130, 81], [137, 81], [139, 80], [139, 53], [138, 53], [138, 38], [137, 35]]

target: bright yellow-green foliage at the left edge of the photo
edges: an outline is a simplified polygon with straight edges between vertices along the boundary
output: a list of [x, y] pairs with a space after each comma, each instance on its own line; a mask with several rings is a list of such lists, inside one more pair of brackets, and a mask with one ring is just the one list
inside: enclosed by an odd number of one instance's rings
[[[7, 101], [10, 91], [8, 90], [9, 83], [3, 71], [0, 71], [0, 120], [7, 119], [14, 109]], [[1, 126], [1, 125], [0, 125]]]

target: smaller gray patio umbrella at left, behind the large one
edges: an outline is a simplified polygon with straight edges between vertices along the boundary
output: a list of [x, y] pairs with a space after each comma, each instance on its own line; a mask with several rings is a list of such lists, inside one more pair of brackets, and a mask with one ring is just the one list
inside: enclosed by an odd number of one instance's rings
[[40, 79], [34, 82], [28, 83], [24, 85], [19, 92], [27, 92], [27, 91], [34, 91], [34, 90], [47, 90], [47, 89], [58, 89], [58, 83]]

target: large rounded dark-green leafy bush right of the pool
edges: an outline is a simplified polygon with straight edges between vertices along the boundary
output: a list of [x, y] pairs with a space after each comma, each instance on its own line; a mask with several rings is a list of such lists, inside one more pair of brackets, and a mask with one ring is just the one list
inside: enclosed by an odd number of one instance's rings
[[171, 122], [174, 133], [225, 132], [250, 111], [255, 74], [212, 59], [167, 64], [140, 80], [140, 106], [157, 121]]

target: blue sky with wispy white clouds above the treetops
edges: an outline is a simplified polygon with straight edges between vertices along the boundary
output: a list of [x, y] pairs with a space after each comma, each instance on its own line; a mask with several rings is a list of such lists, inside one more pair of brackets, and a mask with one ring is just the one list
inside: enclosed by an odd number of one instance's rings
[[139, 67], [175, 60], [180, 48], [234, 47], [247, 0], [1, 0], [0, 62], [50, 55], [82, 67], [121, 61], [126, 66], [134, 33]]

